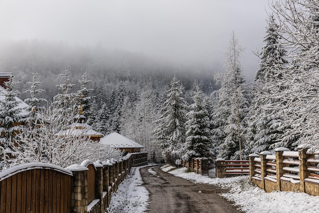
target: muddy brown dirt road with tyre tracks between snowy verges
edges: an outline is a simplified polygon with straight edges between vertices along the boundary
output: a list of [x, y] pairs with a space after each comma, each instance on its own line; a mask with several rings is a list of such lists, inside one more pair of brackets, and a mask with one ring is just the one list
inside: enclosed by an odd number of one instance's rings
[[[144, 187], [150, 192], [149, 212], [241, 212], [219, 196], [223, 190], [206, 184], [195, 184], [159, 169], [140, 169]], [[152, 168], [157, 175], [148, 172]]]

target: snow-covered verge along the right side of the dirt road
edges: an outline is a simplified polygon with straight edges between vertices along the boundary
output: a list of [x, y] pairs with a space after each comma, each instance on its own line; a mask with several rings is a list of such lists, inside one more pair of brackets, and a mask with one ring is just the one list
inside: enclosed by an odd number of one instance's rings
[[189, 172], [186, 168], [174, 169], [171, 166], [162, 167], [163, 171], [175, 176], [188, 179], [195, 183], [218, 185], [229, 189], [229, 193], [222, 197], [232, 201], [235, 205], [247, 213], [255, 212], [319, 212], [319, 197], [297, 192], [272, 192], [265, 193], [249, 182], [248, 176], [209, 178], [195, 172]]

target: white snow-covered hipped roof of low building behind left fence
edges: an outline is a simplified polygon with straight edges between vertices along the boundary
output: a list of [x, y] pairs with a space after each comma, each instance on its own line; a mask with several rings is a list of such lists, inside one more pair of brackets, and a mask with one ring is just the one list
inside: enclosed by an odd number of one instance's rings
[[144, 146], [132, 141], [117, 132], [113, 132], [100, 139], [101, 144], [109, 145], [113, 148], [144, 148]]

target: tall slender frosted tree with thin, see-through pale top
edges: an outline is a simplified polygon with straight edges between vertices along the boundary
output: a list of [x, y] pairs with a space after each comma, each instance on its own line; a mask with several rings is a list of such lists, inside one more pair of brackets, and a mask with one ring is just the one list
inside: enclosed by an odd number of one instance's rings
[[214, 111], [213, 134], [219, 146], [218, 156], [226, 159], [245, 157], [243, 150], [246, 141], [243, 131], [246, 128], [244, 118], [248, 113], [249, 93], [239, 61], [242, 51], [243, 48], [232, 33], [226, 53], [226, 72], [215, 76], [218, 82], [222, 81], [222, 85]]

